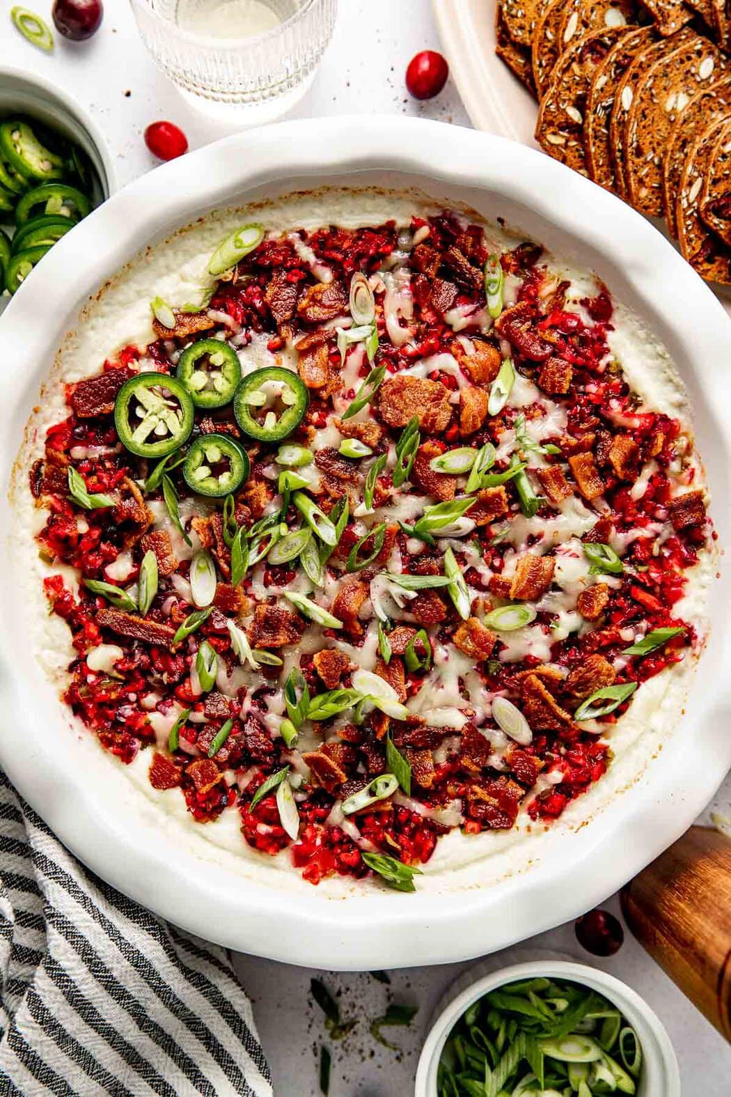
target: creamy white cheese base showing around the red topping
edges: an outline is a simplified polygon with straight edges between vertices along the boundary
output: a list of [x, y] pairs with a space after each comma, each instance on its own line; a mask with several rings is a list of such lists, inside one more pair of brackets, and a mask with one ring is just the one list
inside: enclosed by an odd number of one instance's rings
[[[453, 202], [448, 204], [455, 207]], [[288, 227], [313, 229], [325, 224], [375, 226], [388, 219], [408, 225], [414, 213], [432, 215], [444, 205], [416, 192], [389, 193], [376, 189], [353, 192], [343, 189], [295, 194], [275, 202], [217, 212], [148, 249], [112, 279], [83, 309], [79, 327], [67, 336], [39, 407], [28, 422], [11, 491], [18, 518], [19, 551], [23, 553], [26, 564], [23, 581], [33, 614], [36, 656], [54, 688], [64, 687], [66, 667], [75, 653], [64, 621], [48, 614], [42, 584], [48, 574], [61, 572], [73, 590], [76, 578], [71, 569], [48, 568], [38, 557], [34, 534], [45, 519], [27, 490], [27, 470], [43, 453], [46, 429], [66, 415], [64, 383], [73, 383], [98, 373], [103, 359], [114, 357], [125, 344], [145, 346], [149, 342], [155, 337], [149, 308], [149, 302], [155, 296], [174, 303], [201, 301], [210, 283], [206, 270], [212, 251], [222, 236], [245, 220], [256, 219], [265, 229], [277, 231]], [[465, 213], [472, 220], [486, 224], [472, 211]], [[495, 249], [513, 247], [523, 239], [519, 234], [507, 234], [491, 224], [486, 224], [486, 233]], [[596, 280], [584, 271], [568, 267], [550, 253], [545, 256], [545, 261], [558, 276], [571, 282], [569, 297], [573, 303], [567, 307], [581, 310], [579, 301], [597, 292]], [[665, 411], [678, 417], [689, 430], [687, 397], [666, 351], [637, 317], [617, 302], [614, 304], [615, 331], [609, 333], [608, 342], [623, 365], [627, 381], [640, 395], [647, 410]], [[245, 348], [244, 358], [244, 372], [274, 363], [273, 355], [261, 342]], [[530, 385], [526, 385], [525, 403], [528, 404]], [[516, 394], [516, 398], [518, 396]], [[699, 484], [703, 484], [703, 477], [698, 464], [694, 486]], [[557, 531], [561, 540], [585, 531], [580, 519], [581, 516], [576, 514], [566, 516]], [[576, 528], [572, 528], [572, 523]], [[165, 528], [174, 534], [169, 525]], [[180, 541], [176, 547], [181, 547]], [[711, 554], [704, 552], [700, 563], [686, 573], [686, 596], [677, 606], [677, 614], [694, 623], [701, 641], [708, 629], [706, 606], [713, 565]], [[572, 801], [550, 827], [532, 822], [523, 811], [516, 825], [507, 832], [466, 836], [459, 830], [452, 830], [439, 839], [432, 859], [422, 867], [419, 889], [438, 893], [494, 884], [539, 863], [541, 857], [547, 857], [557, 848], [557, 844], [566, 850], [569, 835], [593, 816], [612, 810], [616, 798], [644, 772], [672, 734], [690, 686], [695, 657], [688, 653], [683, 663], [638, 689], [628, 712], [605, 735], [614, 755], [608, 772], [587, 793]], [[104, 774], [104, 794], [119, 798], [134, 813], [137, 823], [155, 828], [163, 839], [170, 840], [173, 849], [185, 849], [203, 861], [218, 863], [227, 871], [267, 886], [307, 889], [311, 893], [311, 885], [292, 870], [287, 850], [271, 858], [249, 847], [240, 833], [239, 813], [235, 806], [227, 808], [214, 822], [203, 825], [194, 822], [178, 789], [158, 792], [150, 785], [147, 778], [151, 759], [149, 749], [140, 750], [135, 761], [125, 766], [103, 751], [70, 713], [68, 719], [68, 749], [79, 749], [80, 760], [87, 758], [90, 764], [93, 755], [93, 768]], [[79, 737], [82, 743], [73, 742]], [[323, 880], [318, 893], [344, 897], [354, 890], [357, 890], [356, 882], [336, 877]]]

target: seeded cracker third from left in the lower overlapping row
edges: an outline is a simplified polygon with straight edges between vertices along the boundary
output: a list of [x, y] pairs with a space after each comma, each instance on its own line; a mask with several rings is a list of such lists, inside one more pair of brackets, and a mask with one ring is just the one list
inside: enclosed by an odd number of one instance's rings
[[640, 213], [662, 213], [662, 156], [672, 125], [726, 65], [718, 46], [698, 35], [638, 81], [625, 128], [625, 169], [629, 201]]

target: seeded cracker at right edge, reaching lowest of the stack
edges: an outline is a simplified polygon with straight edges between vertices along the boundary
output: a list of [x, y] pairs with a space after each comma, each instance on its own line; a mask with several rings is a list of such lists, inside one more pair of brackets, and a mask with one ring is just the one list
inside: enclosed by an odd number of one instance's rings
[[728, 126], [728, 120], [715, 122], [695, 142], [683, 169], [676, 210], [683, 258], [701, 278], [721, 285], [731, 285], [731, 250], [703, 222], [699, 203], [713, 144]]

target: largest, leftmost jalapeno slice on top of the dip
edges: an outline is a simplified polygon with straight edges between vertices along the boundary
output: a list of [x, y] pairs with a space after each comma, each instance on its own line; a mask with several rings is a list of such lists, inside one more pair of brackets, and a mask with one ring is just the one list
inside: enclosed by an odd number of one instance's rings
[[119, 441], [140, 457], [164, 457], [193, 430], [190, 393], [167, 373], [138, 373], [125, 381], [114, 404]]

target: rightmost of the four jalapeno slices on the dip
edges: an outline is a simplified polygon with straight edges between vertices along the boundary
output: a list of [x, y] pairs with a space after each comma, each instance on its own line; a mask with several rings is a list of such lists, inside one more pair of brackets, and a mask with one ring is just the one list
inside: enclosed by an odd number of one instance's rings
[[302, 421], [308, 404], [307, 388], [298, 375], [270, 365], [243, 378], [233, 397], [233, 415], [251, 438], [281, 442]]

